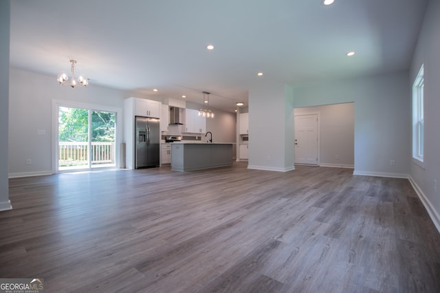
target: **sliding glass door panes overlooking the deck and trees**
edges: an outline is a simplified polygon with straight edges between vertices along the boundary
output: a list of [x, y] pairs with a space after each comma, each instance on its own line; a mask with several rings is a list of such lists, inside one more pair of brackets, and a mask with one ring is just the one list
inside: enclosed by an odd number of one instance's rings
[[116, 112], [57, 107], [56, 171], [116, 166]]

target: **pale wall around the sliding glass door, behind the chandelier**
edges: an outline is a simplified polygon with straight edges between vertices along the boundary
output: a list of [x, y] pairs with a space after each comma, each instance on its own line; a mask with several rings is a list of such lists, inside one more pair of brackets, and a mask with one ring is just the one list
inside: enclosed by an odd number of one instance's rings
[[[53, 173], [52, 100], [123, 109], [125, 93], [89, 84], [87, 89], [59, 86], [56, 76], [10, 68], [9, 176]], [[122, 115], [118, 121], [122, 121]], [[37, 135], [37, 130], [45, 135]], [[120, 133], [122, 135], [122, 133]], [[122, 137], [122, 136], [121, 136]], [[26, 160], [32, 165], [26, 165]]]

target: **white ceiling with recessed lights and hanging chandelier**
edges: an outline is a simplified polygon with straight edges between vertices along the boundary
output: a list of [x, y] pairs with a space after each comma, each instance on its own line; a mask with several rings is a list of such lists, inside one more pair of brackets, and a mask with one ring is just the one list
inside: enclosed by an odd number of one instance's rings
[[408, 69], [425, 0], [321, 1], [14, 0], [10, 63], [56, 83], [74, 58], [90, 86], [199, 104], [210, 91], [226, 111], [253, 83]]

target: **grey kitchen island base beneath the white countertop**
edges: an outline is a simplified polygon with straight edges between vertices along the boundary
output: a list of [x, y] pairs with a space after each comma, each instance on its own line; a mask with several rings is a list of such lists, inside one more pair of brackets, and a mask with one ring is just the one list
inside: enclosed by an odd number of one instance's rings
[[173, 142], [171, 170], [192, 171], [232, 166], [232, 143]]

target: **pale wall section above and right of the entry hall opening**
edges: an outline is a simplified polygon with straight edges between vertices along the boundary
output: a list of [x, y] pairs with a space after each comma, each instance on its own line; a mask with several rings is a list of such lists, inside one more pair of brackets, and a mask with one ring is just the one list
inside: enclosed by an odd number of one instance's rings
[[408, 83], [408, 73], [398, 72], [296, 85], [294, 107], [355, 102], [354, 173], [407, 177], [411, 151]]

